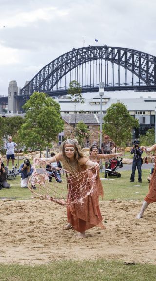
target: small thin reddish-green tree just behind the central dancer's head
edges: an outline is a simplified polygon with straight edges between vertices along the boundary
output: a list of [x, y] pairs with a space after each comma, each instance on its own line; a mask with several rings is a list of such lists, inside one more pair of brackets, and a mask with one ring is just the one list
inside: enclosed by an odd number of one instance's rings
[[84, 143], [87, 139], [86, 135], [83, 133], [88, 133], [88, 127], [86, 124], [84, 124], [82, 121], [79, 121], [76, 126], [76, 134], [75, 137], [78, 140], [78, 143], [81, 147], [84, 147]]

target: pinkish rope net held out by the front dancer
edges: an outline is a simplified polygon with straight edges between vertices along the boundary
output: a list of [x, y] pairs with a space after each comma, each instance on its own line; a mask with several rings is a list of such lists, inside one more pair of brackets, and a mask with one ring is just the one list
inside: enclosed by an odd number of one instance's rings
[[[57, 173], [54, 173], [54, 176], [48, 174], [46, 164], [40, 159], [34, 159], [33, 161], [34, 171], [28, 182], [28, 188], [33, 194], [60, 205], [71, 207], [75, 203], [83, 204], [84, 199], [93, 193], [97, 177], [95, 169], [71, 173], [59, 168], [60, 175], [57, 176]], [[52, 165], [51, 167], [52, 171], [56, 171], [56, 167]], [[51, 182], [49, 182], [50, 176]], [[33, 189], [33, 187], [36, 189]]]

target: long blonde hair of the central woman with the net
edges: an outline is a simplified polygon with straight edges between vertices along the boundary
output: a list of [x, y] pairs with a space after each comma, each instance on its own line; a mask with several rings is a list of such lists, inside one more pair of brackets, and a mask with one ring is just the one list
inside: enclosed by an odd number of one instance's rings
[[[70, 163], [70, 159], [66, 156], [65, 154], [65, 145], [73, 145], [74, 146], [74, 160], [76, 162], [76, 167], [73, 167], [73, 165], [71, 165]], [[62, 163], [63, 163], [63, 167], [64, 169], [66, 169], [69, 172], [80, 172], [80, 167], [79, 167], [79, 159], [82, 157], [86, 157], [84, 152], [82, 151], [80, 145], [78, 144], [77, 139], [67, 139], [63, 142], [63, 146], [62, 146]]]

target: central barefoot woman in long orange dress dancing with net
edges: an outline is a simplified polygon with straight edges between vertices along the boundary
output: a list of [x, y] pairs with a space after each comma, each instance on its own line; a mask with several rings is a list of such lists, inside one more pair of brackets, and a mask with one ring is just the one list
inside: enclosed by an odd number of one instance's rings
[[[76, 139], [67, 139], [62, 146], [62, 152], [58, 153], [54, 157], [46, 160], [47, 163], [53, 163], [55, 161], [62, 161], [63, 168], [71, 173], [78, 173], [78, 179], [76, 176], [70, 174], [68, 181], [68, 198], [71, 196], [74, 199], [78, 193], [78, 187], [84, 184], [86, 190], [91, 189], [91, 179], [93, 173], [90, 170], [86, 170], [88, 167], [94, 167], [99, 170], [99, 164], [97, 162], [90, 161], [78, 145]], [[85, 171], [85, 172], [84, 172]], [[80, 173], [82, 172], [82, 176]], [[70, 193], [72, 189], [72, 195]], [[78, 238], [85, 238], [85, 231], [96, 225], [101, 226], [103, 229], [102, 216], [99, 209], [99, 193], [96, 184], [94, 185], [93, 192], [88, 195], [82, 204], [73, 204], [72, 207], [67, 207], [68, 224], [64, 229], [69, 229], [71, 226], [77, 230], [79, 234]]]

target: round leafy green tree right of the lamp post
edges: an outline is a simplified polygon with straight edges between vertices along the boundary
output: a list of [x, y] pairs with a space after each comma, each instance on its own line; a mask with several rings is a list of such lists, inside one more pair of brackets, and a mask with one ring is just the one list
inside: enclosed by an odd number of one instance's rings
[[103, 118], [103, 131], [117, 144], [131, 140], [132, 128], [139, 127], [138, 119], [134, 119], [123, 103], [112, 104]]

